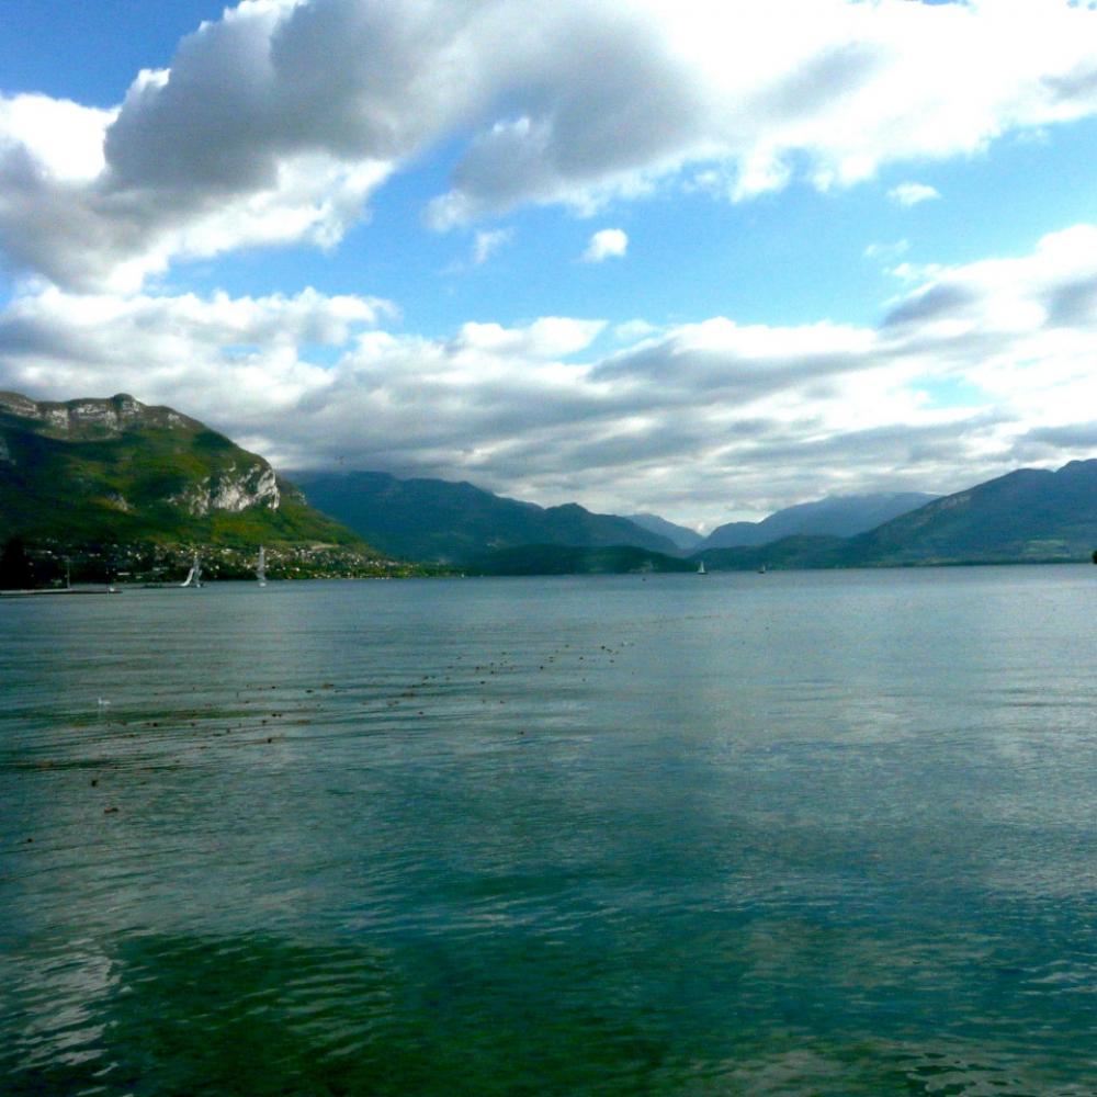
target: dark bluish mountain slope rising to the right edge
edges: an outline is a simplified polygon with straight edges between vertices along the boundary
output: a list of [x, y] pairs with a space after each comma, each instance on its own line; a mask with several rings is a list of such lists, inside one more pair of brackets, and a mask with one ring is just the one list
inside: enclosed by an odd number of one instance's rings
[[848, 564], [1089, 559], [1097, 548], [1097, 461], [1020, 468], [853, 538]]

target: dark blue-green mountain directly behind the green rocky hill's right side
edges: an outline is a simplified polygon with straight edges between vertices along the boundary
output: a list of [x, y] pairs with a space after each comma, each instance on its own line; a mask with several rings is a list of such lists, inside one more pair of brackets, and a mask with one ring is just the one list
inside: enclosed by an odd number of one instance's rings
[[518, 545], [633, 545], [675, 552], [667, 538], [576, 504], [543, 508], [472, 484], [397, 479], [387, 473], [302, 472], [293, 476], [314, 506], [383, 552], [410, 559], [464, 562]]

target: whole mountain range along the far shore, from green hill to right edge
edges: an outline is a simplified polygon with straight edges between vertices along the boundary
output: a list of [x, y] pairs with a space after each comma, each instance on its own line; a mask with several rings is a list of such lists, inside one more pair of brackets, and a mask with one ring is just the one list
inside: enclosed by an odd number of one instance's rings
[[701, 559], [710, 570], [1082, 561], [1097, 546], [1097, 460], [1022, 468], [942, 498], [832, 497], [704, 540], [655, 514], [540, 507], [465, 483], [296, 479], [125, 394], [50, 403], [0, 393], [0, 541], [346, 546], [486, 574], [674, 572]]

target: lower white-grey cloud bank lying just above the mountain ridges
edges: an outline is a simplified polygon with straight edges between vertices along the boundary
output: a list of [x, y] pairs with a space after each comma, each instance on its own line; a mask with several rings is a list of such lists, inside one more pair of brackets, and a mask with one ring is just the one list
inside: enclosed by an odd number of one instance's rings
[[[283, 467], [467, 478], [546, 502], [720, 522], [828, 491], [947, 491], [1092, 456], [1097, 226], [939, 268], [878, 325], [599, 320], [403, 332], [393, 307], [27, 292], [0, 313], [0, 387], [128, 391]], [[124, 348], [120, 354], [118, 348]], [[958, 395], [959, 394], [959, 395]]]

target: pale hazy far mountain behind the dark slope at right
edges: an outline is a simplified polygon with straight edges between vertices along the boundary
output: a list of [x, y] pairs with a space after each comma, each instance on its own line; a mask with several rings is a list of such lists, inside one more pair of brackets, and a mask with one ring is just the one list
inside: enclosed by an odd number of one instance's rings
[[829, 496], [779, 510], [760, 522], [728, 522], [705, 538], [701, 550], [769, 544], [789, 536], [851, 538], [915, 510], [937, 496], [919, 491]]

